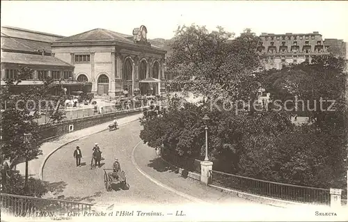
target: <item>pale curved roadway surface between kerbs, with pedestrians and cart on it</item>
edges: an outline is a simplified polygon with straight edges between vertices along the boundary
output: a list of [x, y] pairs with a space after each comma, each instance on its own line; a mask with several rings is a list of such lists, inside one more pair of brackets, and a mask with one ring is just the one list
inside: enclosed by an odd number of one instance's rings
[[[115, 203], [118, 204], [177, 204], [190, 203], [187, 198], [157, 186], [132, 163], [132, 150], [139, 143], [141, 126], [139, 122], [131, 122], [120, 129], [104, 131], [80, 141], [75, 141], [57, 150], [45, 164], [44, 180], [49, 182], [54, 196], [64, 196], [65, 200], [85, 203]], [[101, 168], [90, 169], [90, 159], [94, 143], [99, 143], [102, 150]], [[81, 164], [76, 166], [73, 152], [79, 145], [82, 152]], [[148, 152], [154, 152], [149, 148]], [[107, 192], [104, 187], [104, 171], [102, 168], [112, 168], [113, 159], [117, 157], [122, 170], [127, 175], [128, 190]]]

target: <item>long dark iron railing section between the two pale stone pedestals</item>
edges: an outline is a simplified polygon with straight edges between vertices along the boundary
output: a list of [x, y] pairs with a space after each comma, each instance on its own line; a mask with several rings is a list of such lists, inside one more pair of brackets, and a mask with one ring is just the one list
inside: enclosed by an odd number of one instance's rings
[[258, 180], [250, 177], [232, 175], [219, 171], [210, 172], [210, 184], [217, 187], [223, 187], [253, 193], [258, 196], [267, 196], [299, 203], [319, 203], [330, 204], [330, 189], [315, 187], [303, 187], [293, 184], [283, 184], [279, 182], [270, 182]]

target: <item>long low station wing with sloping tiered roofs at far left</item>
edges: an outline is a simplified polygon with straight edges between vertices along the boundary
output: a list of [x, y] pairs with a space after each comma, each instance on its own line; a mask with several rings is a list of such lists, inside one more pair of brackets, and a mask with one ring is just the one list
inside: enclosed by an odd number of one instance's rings
[[66, 88], [68, 93], [83, 90], [86, 84], [74, 81], [74, 66], [52, 54], [51, 42], [63, 37], [1, 26], [1, 86], [6, 85], [6, 79], [15, 79], [18, 71], [26, 67], [33, 70], [33, 75], [23, 79], [13, 93], [27, 87], [42, 85], [48, 77], [55, 79], [53, 95], [62, 87]]

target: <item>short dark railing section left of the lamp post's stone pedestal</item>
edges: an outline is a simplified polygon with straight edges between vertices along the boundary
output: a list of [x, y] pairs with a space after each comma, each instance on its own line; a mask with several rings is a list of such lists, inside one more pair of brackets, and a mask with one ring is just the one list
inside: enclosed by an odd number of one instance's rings
[[174, 150], [163, 148], [161, 151], [161, 157], [169, 163], [184, 168], [187, 171], [200, 174], [200, 160], [182, 157]]

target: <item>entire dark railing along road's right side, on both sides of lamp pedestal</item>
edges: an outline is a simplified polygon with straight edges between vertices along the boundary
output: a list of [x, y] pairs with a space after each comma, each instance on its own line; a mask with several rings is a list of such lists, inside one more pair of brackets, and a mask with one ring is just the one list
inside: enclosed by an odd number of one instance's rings
[[[200, 160], [182, 157], [169, 148], [163, 148], [161, 157], [169, 163], [194, 173], [201, 173]], [[209, 184], [258, 196], [277, 198], [297, 203], [330, 205], [330, 189], [283, 184], [251, 177], [210, 171]], [[347, 191], [342, 190], [342, 204], [347, 204]]]

